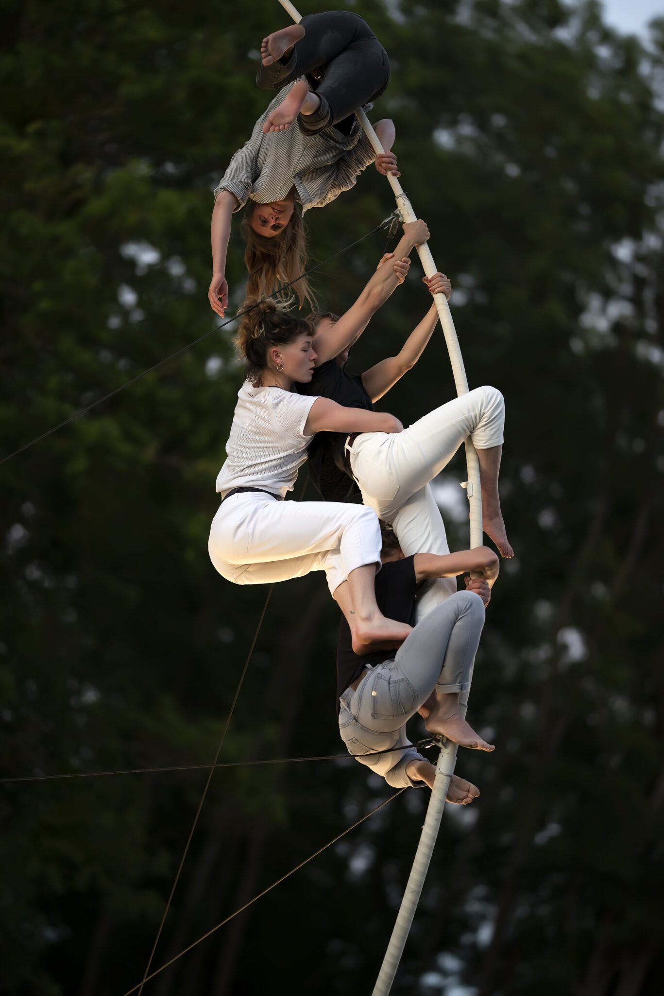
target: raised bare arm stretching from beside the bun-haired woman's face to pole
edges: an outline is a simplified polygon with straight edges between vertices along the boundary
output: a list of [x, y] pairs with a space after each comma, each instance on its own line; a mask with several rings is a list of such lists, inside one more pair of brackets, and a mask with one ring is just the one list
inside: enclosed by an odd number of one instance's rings
[[[394, 248], [394, 259], [398, 262], [408, 258], [416, 245], [426, 242], [429, 229], [424, 221], [408, 221], [403, 226], [403, 235]], [[381, 261], [382, 262], [382, 261]], [[347, 350], [361, 336], [371, 317], [384, 305], [390, 294], [399, 286], [402, 278], [394, 266], [378, 264], [368, 284], [355, 301], [352, 308], [341, 315], [331, 329], [314, 339], [314, 349], [318, 354], [317, 366]]]

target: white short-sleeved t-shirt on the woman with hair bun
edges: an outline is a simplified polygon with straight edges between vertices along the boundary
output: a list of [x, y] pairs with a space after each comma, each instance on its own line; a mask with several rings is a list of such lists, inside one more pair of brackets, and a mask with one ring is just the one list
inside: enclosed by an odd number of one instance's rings
[[282, 498], [293, 490], [313, 436], [305, 435], [305, 424], [316, 400], [245, 380], [226, 443], [228, 459], [217, 475], [222, 498], [233, 488], [263, 488]]

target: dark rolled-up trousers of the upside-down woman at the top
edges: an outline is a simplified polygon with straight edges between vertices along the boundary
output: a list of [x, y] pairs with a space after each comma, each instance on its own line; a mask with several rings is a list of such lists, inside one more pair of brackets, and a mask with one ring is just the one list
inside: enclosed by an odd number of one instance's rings
[[[321, 98], [313, 115], [299, 115], [301, 131], [323, 131], [343, 122], [383, 93], [389, 83], [389, 59], [382, 45], [357, 14], [329, 11], [303, 17], [305, 37], [286, 63], [261, 66], [256, 83], [263, 90], [281, 90], [306, 76]], [[312, 74], [320, 70], [321, 73]]]

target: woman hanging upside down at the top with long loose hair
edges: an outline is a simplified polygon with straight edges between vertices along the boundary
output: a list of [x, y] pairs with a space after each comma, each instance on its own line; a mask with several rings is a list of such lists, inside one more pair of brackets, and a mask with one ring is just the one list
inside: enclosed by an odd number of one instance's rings
[[[242, 225], [247, 294], [261, 297], [306, 270], [305, 211], [325, 207], [374, 160], [378, 172], [399, 175], [390, 151], [392, 122], [384, 119], [375, 126], [386, 149], [376, 157], [354, 117], [389, 81], [387, 53], [361, 17], [345, 11], [311, 14], [268, 35], [261, 54], [256, 82], [280, 93], [214, 191], [208, 300], [222, 318], [228, 305], [226, 253], [233, 212], [247, 204]], [[316, 307], [306, 278], [295, 292], [301, 306], [309, 301]]]

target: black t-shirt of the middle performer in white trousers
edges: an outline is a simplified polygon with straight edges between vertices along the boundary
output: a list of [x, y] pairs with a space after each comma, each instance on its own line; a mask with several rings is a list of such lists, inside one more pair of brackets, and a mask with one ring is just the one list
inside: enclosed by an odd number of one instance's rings
[[[321, 364], [309, 383], [297, 383], [296, 388], [300, 394], [330, 397], [346, 408], [374, 410], [361, 374], [345, 373], [335, 360]], [[345, 465], [343, 445], [347, 435], [347, 432], [317, 432], [309, 446], [309, 475], [326, 501], [348, 501], [359, 494]]]

